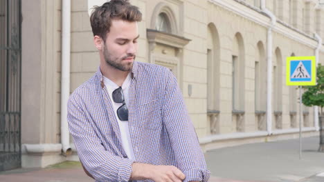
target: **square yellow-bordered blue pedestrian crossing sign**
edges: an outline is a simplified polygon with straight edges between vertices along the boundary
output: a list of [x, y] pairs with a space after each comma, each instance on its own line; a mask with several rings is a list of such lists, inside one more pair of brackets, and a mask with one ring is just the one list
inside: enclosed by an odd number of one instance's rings
[[316, 85], [315, 57], [287, 57], [287, 85]]

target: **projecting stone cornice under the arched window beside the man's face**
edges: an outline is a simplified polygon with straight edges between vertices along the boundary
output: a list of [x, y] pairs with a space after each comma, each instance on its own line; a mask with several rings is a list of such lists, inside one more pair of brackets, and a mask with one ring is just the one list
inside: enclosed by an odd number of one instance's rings
[[191, 41], [190, 39], [186, 39], [175, 34], [169, 34], [152, 29], [147, 29], [146, 34], [147, 40], [150, 43], [161, 43], [164, 45], [170, 45], [175, 48], [183, 48], [189, 43], [189, 41]]

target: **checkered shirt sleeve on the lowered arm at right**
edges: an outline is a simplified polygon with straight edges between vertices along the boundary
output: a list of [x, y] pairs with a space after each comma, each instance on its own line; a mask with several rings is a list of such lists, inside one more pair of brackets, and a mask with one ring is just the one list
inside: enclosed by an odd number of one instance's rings
[[207, 170], [204, 154], [186, 110], [177, 79], [172, 72], [168, 74], [163, 113], [177, 165], [186, 175], [184, 181], [208, 181], [210, 172]]

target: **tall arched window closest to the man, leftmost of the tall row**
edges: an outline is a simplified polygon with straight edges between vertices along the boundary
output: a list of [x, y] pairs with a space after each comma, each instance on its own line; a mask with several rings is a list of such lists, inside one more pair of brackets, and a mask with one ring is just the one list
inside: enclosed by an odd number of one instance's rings
[[219, 37], [213, 23], [207, 35], [207, 115], [210, 134], [219, 134]]

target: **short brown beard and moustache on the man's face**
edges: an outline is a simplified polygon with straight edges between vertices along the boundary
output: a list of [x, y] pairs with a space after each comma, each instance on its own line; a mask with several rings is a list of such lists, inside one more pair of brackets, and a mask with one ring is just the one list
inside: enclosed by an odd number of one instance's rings
[[123, 72], [129, 72], [133, 68], [133, 62], [132, 63], [123, 63], [124, 59], [127, 59], [128, 57], [135, 57], [135, 54], [129, 53], [125, 57], [122, 58], [114, 58], [111, 56], [111, 53], [107, 49], [106, 45], [104, 44], [104, 50], [103, 55], [105, 58], [105, 61], [108, 65], [111, 65], [111, 67], [116, 68], [117, 70], [123, 71]]

